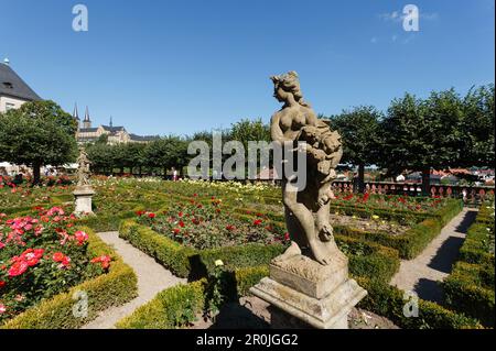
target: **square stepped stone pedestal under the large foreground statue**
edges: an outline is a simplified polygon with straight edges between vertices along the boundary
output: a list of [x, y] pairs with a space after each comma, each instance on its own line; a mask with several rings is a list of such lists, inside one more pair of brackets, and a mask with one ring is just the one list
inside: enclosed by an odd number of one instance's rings
[[347, 329], [352, 308], [367, 292], [348, 277], [344, 254], [330, 265], [303, 255], [270, 264], [265, 277], [250, 293], [271, 304], [272, 328]]

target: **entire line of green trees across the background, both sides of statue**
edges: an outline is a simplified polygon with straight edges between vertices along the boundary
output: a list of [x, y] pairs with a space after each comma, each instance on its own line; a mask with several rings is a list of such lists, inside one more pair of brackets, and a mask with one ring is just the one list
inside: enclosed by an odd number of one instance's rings
[[[370, 106], [324, 117], [343, 136], [342, 163], [358, 167], [359, 190], [364, 190], [367, 165], [397, 175], [405, 169], [423, 174], [429, 190], [430, 169], [489, 166], [495, 161], [494, 85], [471, 89], [461, 96], [454, 89], [432, 92], [420, 99], [410, 94], [391, 101], [382, 112]], [[77, 154], [76, 122], [53, 101], [23, 105], [0, 114], [0, 160], [33, 167], [34, 183], [40, 166], [73, 162]], [[260, 119], [241, 120], [222, 131], [223, 141], [240, 141], [248, 151], [249, 141], [270, 142], [270, 128]], [[108, 145], [105, 138], [87, 146], [96, 172], [125, 168], [142, 173], [147, 168], [181, 169], [187, 165], [191, 141], [212, 146], [212, 133], [191, 136], [164, 136], [147, 144]], [[226, 156], [227, 157], [227, 156]], [[248, 157], [246, 157], [247, 160]]]

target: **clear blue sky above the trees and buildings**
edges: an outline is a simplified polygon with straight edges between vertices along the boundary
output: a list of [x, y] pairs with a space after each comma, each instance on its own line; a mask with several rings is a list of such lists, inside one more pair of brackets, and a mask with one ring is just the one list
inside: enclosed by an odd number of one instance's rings
[[[72, 29], [77, 3], [88, 32]], [[419, 32], [402, 29], [408, 3]], [[0, 58], [43, 98], [138, 134], [269, 121], [269, 76], [287, 70], [325, 114], [464, 94], [494, 83], [494, 0], [0, 0]]]

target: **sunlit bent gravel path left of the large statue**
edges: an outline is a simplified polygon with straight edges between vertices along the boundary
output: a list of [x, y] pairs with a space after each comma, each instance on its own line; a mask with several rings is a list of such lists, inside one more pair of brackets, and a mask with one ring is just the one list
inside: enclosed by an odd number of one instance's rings
[[174, 276], [152, 257], [120, 239], [118, 232], [98, 233], [98, 235], [114, 246], [122, 260], [134, 270], [138, 276], [138, 297], [126, 305], [104, 310], [83, 329], [112, 329], [117, 321], [151, 300], [159, 292], [179, 283], [186, 283], [186, 279]]

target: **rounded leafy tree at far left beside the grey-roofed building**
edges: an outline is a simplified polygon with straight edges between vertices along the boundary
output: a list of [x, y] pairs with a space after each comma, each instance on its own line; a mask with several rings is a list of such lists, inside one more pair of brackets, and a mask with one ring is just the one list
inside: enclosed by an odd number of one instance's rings
[[75, 160], [76, 129], [76, 121], [55, 102], [26, 102], [0, 114], [0, 158], [31, 166], [37, 185], [42, 165]]

